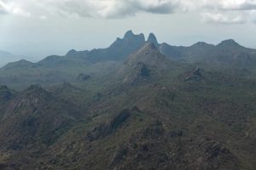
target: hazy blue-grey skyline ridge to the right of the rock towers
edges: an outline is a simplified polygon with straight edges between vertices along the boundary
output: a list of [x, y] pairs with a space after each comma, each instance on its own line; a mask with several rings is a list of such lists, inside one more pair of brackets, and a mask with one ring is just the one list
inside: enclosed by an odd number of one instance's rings
[[177, 47], [162, 43], [160, 52], [170, 59], [183, 59], [188, 63], [247, 68], [256, 65], [256, 49], [245, 48], [234, 40], [218, 45], [197, 42], [190, 47]]

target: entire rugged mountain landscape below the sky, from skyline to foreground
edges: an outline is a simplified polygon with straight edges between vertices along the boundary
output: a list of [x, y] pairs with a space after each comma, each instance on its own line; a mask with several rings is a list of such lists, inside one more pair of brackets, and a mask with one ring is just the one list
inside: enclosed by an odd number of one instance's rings
[[[127, 31], [0, 69], [0, 169], [256, 167], [256, 50]], [[36, 84], [36, 85], [35, 85]]]

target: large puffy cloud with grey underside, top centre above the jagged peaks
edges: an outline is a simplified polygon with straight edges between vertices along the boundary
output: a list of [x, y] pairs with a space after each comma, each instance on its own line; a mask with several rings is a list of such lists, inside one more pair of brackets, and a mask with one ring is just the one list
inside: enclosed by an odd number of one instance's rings
[[135, 15], [139, 12], [153, 14], [170, 14], [177, 8], [169, 0], [98, 0], [93, 3], [87, 1], [66, 1], [55, 3], [62, 14], [78, 14], [79, 16], [101, 17], [101, 18], [122, 18]]

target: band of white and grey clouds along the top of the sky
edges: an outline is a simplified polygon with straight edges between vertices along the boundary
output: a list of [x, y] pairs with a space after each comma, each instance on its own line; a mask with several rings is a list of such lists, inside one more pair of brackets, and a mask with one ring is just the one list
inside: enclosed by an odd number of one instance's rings
[[[0, 0], [0, 14], [123, 18], [137, 13], [198, 12], [205, 22], [241, 24], [256, 10], [256, 0]], [[229, 13], [227, 13], [230, 11]], [[234, 14], [232, 13], [241, 13]], [[241, 16], [242, 15], [242, 16]], [[44, 17], [43, 17], [44, 16]]]

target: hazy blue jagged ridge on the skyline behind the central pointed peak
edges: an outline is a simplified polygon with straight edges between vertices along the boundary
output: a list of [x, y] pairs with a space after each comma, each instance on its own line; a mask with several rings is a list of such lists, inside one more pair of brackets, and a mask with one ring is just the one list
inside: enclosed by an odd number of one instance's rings
[[[134, 34], [131, 30], [125, 32], [125, 36], [123, 38], [117, 38], [115, 42], [113, 42], [108, 48], [98, 48], [92, 50], [84, 50], [84, 51], [76, 51], [72, 49], [67, 52], [64, 56], [48, 56], [45, 59], [42, 59], [35, 63], [35, 65], [39, 65], [47, 61], [47, 59], [51, 59], [52, 62], [59, 63], [60, 65], [65, 65], [67, 62], [74, 62], [74, 65], [77, 65], [81, 62], [90, 62], [96, 63], [106, 60], [125, 60], [125, 58], [132, 53], [135, 53], [139, 48], [143, 46], [143, 44], [147, 42], [153, 42], [155, 47], [160, 49], [160, 53], [165, 54], [170, 59], [189, 59], [189, 62], [198, 62], [202, 58], [202, 54], [209, 55], [209, 53], [218, 54], [219, 50], [222, 48], [232, 49], [239, 53], [239, 50], [243, 53], [248, 54], [256, 54], [256, 49], [253, 48], [244, 48], [239, 43], [237, 43], [233, 39], [227, 39], [222, 42], [219, 42], [217, 45], [208, 44], [207, 42], [196, 42], [191, 46], [172, 46], [166, 42], [159, 43], [157, 38], [154, 36], [154, 33], [150, 33], [148, 35], [148, 39], [145, 40], [143, 33]], [[199, 51], [199, 52], [196, 52]], [[198, 57], [198, 59], [196, 59]], [[74, 59], [75, 58], [75, 59]], [[191, 59], [193, 58], [193, 59]], [[194, 59], [195, 58], [195, 59]], [[204, 58], [206, 59], [206, 58]], [[22, 61], [24, 59], [21, 59]], [[55, 61], [59, 60], [59, 61]], [[19, 61], [18, 61], [19, 62]], [[212, 61], [211, 61], [212, 62]], [[32, 64], [32, 63], [31, 63]], [[11, 65], [18, 66], [21, 65], [19, 63], [9, 63], [9, 65], [5, 65], [4, 67], [11, 67]], [[45, 65], [51, 65], [51, 63], [45, 63]]]

